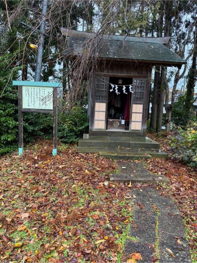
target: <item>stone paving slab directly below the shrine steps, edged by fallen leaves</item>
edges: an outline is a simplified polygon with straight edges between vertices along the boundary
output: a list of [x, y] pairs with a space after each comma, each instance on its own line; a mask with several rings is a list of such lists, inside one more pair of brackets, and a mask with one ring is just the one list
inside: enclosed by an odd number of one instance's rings
[[159, 183], [168, 183], [169, 180], [164, 175], [155, 175], [149, 172], [142, 163], [138, 162], [117, 162], [119, 167], [117, 168], [120, 172], [110, 174], [111, 181], [118, 182], [130, 182], [135, 183], [150, 183], [150, 184], [159, 184]]

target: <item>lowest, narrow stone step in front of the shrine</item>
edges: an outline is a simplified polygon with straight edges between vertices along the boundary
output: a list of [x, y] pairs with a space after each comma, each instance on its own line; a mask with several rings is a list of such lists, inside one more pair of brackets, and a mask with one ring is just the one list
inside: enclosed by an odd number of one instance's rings
[[150, 154], [141, 152], [99, 152], [99, 155], [112, 159], [152, 159]]

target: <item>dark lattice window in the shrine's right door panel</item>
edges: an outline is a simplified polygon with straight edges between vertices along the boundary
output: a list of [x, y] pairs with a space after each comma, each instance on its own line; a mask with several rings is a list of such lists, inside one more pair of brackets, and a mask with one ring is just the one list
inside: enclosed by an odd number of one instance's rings
[[145, 94], [145, 85], [146, 82], [145, 80], [143, 81], [142, 79], [134, 79], [133, 84], [133, 102], [137, 103], [143, 103], [144, 101], [144, 94]]

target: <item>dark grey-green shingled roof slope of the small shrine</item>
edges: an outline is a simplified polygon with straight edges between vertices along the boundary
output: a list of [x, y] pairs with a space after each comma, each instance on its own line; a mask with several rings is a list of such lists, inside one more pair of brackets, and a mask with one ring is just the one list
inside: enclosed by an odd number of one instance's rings
[[[122, 36], [121, 36], [122, 37]], [[175, 52], [171, 51], [161, 42], [120, 40], [113, 38], [95, 38], [93, 43], [90, 38], [69, 36], [65, 54], [78, 56], [86, 54], [91, 48], [93, 55], [99, 58], [118, 59], [125, 61], [149, 62], [160, 65], [173, 65], [180, 67], [187, 63]], [[132, 38], [130, 38], [132, 39]], [[139, 38], [140, 40], [142, 38]]]

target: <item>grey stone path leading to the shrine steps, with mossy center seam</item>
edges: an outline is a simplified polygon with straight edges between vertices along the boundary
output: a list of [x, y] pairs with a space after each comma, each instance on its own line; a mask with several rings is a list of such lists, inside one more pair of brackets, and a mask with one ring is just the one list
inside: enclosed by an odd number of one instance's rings
[[[119, 175], [119, 179], [127, 181], [133, 171], [137, 182], [142, 182], [146, 176], [151, 181], [150, 173], [140, 163], [128, 162], [126, 165], [119, 162], [119, 165], [126, 168], [116, 174], [116, 179]], [[114, 180], [115, 176], [110, 178]], [[157, 179], [152, 181], [159, 182]], [[138, 262], [191, 262], [183, 219], [169, 198], [159, 195], [159, 191], [151, 187], [132, 189], [129, 194], [134, 201], [134, 211], [123, 261], [127, 261], [131, 253], [141, 253], [142, 260]]]

